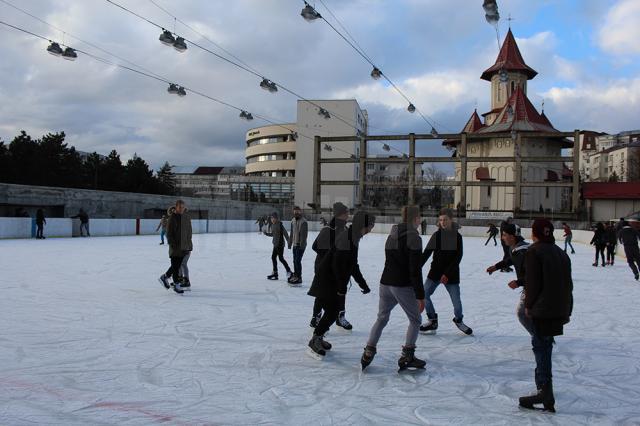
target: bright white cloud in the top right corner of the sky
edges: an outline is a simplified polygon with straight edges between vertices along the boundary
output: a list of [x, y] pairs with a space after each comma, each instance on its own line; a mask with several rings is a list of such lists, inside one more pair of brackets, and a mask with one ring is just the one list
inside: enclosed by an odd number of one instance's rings
[[613, 6], [598, 33], [603, 51], [616, 55], [640, 54], [640, 1], [621, 0]]

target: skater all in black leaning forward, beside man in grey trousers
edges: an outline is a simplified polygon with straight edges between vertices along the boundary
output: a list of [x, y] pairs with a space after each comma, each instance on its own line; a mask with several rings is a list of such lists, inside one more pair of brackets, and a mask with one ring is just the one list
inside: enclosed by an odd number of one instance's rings
[[[356, 212], [351, 226], [336, 237], [334, 247], [325, 253], [316, 269], [308, 292], [310, 296], [316, 298], [315, 302], [319, 303], [323, 310], [309, 341], [309, 348], [316, 356], [324, 356], [326, 351], [331, 349], [331, 344], [324, 341], [323, 337], [329, 331], [331, 324], [336, 322], [336, 316], [343, 306], [347, 285], [353, 271], [360, 270], [358, 266], [360, 240], [371, 232], [375, 219], [375, 216], [364, 211]], [[367, 286], [363, 288], [362, 293], [367, 294], [370, 291]]]

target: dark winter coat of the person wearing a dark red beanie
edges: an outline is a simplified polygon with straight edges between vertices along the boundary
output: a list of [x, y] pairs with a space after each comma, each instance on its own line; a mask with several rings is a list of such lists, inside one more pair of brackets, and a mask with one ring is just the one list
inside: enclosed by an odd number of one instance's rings
[[558, 336], [573, 311], [573, 280], [569, 256], [553, 243], [538, 241], [525, 257], [525, 301], [538, 333]]

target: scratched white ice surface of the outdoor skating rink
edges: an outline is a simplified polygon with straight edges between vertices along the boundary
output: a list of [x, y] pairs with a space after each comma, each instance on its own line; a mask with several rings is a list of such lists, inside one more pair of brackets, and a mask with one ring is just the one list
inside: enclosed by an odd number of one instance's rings
[[[554, 348], [555, 415], [518, 408], [533, 391], [533, 354], [516, 320], [515, 274], [484, 270], [500, 246], [465, 238], [462, 301], [473, 336], [451, 322], [421, 335], [418, 373], [397, 373], [407, 320], [392, 313], [365, 373], [360, 356], [378, 305], [384, 235], [368, 235], [360, 265], [372, 292], [347, 297], [352, 332], [306, 354], [313, 299], [304, 284], [268, 281], [271, 240], [194, 236], [193, 291], [165, 290], [157, 237], [0, 241], [0, 424], [638, 424], [640, 284], [624, 259], [594, 268], [575, 244], [575, 308]], [[291, 252], [285, 253], [292, 264]], [[426, 272], [426, 268], [425, 268]]]

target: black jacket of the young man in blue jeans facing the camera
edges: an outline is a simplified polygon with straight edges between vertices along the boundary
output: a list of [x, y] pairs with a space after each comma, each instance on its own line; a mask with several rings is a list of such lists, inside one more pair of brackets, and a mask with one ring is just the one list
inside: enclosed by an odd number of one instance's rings
[[460, 262], [462, 261], [462, 235], [454, 229], [438, 229], [427, 243], [422, 253], [424, 265], [433, 253], [431, 269], [427, 277], [435, 282], [446, 275], [449, 284], [460, 283]]

